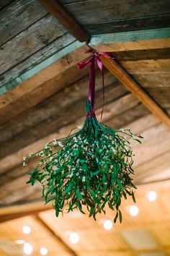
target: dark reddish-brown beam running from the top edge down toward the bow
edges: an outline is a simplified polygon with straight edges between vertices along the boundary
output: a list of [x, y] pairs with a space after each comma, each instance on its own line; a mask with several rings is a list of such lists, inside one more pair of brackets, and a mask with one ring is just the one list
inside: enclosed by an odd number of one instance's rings
[[40, 3], [80, 42], [89, 42], [90, 35], [57, 0], [39, 0]]

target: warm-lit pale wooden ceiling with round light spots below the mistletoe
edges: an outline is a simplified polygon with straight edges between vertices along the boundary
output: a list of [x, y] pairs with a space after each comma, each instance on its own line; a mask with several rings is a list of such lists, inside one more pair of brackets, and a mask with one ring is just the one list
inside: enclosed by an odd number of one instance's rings
[[[154, 202], [149, 202], [147, 199], [147, 193], [151, 189], [158, 195]], [[22, 255], [24, 242], [32, 245], [32, 256], [40, 255], [40, 247], [47, 248], [49, 256], [169, 255], [170, 208], [167, 203], [170, 200], [169, 195], [167, 182], [164, 182], [164, 186], [162, 184], [139, 186], [136, 193], [138, 216], [130, 216], [129, 207], [133, 205], [132, 201], [129, 199], [123, 201], [122, 224], [114, 224], [109, 231], [103, 226], [105, 220], [113, 218], [113, 213], [109, 209], [107, 215], [99, 215], [97, 221], [76, 211], [56, 218], [54, 210], [45, 210], [0, 223], [0, 255], [10, 255], [7, 253], [10, 251], [13, 251], [12, 255]], [[18, 212], [19, 210], [18, 206]], [[12, 215], [12, 208], [8, 212]], [[1, 211], [0, 216], [2, 217]], [[25, 225], [31, 227], [30, 234], [22, 232], [22, 227]], [[71, 243], [69, 239], [71, 232], [79, 234], [79, 243]]]

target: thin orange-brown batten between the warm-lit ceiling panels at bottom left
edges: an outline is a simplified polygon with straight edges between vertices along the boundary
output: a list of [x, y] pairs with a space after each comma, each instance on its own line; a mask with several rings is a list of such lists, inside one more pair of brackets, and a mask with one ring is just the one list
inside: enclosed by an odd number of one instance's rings
[[44, 229], [46, 229], [46, 230], [53, 236], [53, 238], [54, 238], [57, 242], [59, 242], [59, 243], [63, 246], [63, 248], [66, 249], [67, 252], [69, 252], [69, 254], [70, 254], [71, 256], [78, 256], [78, 255], [76, 254], [76, 252], [74, 252], [73, 249], [71, 249], [71, 247], [69, 247], [69, 246], [63, 241], [63, 239], [61, 239], [61, 237], [58, 236], [58, 234], [56, 234], [55, 231], [53, 231], [53, 229], [50, 228], [50, 226], [48, 226], [47, 223], [45, 223], [45, 221], [42, 221], [42, 218], [40, 218], [40, 216], [36, 215], [36, 216], [35, 216], [35, 221], [37, 221], [38, 223], [40, 223], [40, 225], [41, 225]]

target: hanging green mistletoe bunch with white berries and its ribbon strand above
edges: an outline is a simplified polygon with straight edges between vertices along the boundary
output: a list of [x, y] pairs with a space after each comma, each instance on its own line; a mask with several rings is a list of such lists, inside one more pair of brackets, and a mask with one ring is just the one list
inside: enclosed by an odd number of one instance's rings
[[[91, 66], [98, 57], [93, 52]], [[54, 139], [39, 152], [31, 154], [30, 158], [39, 156], [40, 162], [29, 174], [27, 183], [34, 185], [38, 181], [42, 184], [42, 197], [46, 203], [53, 201], [56, 216], [75, 208], [84, 213], [84, 205], [89, 216], [96, 220], [97, 213], [105, 213], [108, 205], [116, 211], [114, 221], [119, 217], [121, 222], [122, 197], [126, 199], [130, 195], [135, 202], [135, 185], [131, 178], [133, 153], [130, 142], [123, 135], [138, 142], [141, 136], [133, 135], [129, 129], [115, 131], [97, 120], [94, 80], [89, 88], [83, 127], [68, 137]], [[24, 165], [30, 158], [24, 158]]]

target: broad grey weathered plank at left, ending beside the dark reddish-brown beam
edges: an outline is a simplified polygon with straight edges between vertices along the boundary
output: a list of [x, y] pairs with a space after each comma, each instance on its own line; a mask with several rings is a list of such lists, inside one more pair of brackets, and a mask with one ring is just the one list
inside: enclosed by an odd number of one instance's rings
[[66, 29], [54, 17], [47, 14], [1, 47], [0, 74], [35, 54], [64, 33], [66, 33]]

